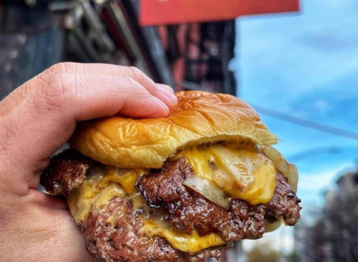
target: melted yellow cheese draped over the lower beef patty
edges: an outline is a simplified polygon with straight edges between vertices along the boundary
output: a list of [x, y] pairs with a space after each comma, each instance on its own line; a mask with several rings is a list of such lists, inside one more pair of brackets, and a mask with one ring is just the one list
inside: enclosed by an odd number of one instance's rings
[[[99, 212], [101, 206], [113, 197], [123, 198], [126, 196], [120, 184], [112, 182], [108, 180], [108, 178], [98, 181], [99, 179], [100, 178], [97, 177], [86, 180], [81, 188], [74, 190], [67, 197], [72, 216], [77, 224], [86, 220], [89, 212]], [[101, 184], [101, 186], [99, 186], [99, 184]], [[106, 184], [105, 187], [103, 187], [104, 184]], [[135, 190], [134, 186], [133, 190]], [[176, 232], [170, 224], [161, 220], [160, 214], [153, 213], [154, 211], [147, 206], [141, 193], [137, 192], [131, 194], [129, 197], [132, 200], [133, 209], [144, 210], [141, 216], [143, 226], [140, 228], [140, 234], [147, 237], [163, 237], [174, 248], [189, 253], [195, 253], [207, 247], [224, 244], [220, 236], [215, 233], [200, 237], [196, 230], [194, 230], [190, 236], [185, 232]], [[114, 226], [116, 220], [123, 215], [125, 215], [124, 207], [116, 210], [116, 213], [110, 215], [106, 222]]]

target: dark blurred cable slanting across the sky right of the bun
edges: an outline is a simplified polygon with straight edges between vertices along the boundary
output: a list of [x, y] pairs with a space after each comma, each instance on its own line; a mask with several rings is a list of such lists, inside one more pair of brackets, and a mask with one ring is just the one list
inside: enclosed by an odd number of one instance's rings
[[340, 129], [337, 127], [332, 127], [332, 126], [328, 126], [328, 125], [323, 125], [317, 122], [313, 122], [310, 120], [306, 120], [304, 118], [300, 118], [297, 116], [292, 116], [286, 113], [282, 113], [276, 110], [272, 110], [263, 106], [259, 106], [256, 104], [252, 104], [251, 105], [258, 111], [261, 112], [265, 115], [268, 116], [272, 116], [275, 118], [278, 118], [280, 120], [284, 120], [287, 122], [291, 122], [291, 123], [295, 123], [297, 125], [300, 126], [305, 126], [305, 127], [309, 127], [309, 128], [313, 128], [316, 130], [320, 130], [329, 134], [333, 134], [333, 135], [338, 135], [338, 136], [342, 136], [342, 137], [346, 137], [346, 138], [350, 138], [350, 139], [354, 139], [354, 140], [358, 140], [358, 133], [356, 132], [352, 132], [352, 131], [348, 131], [348, 130], [344, 130], [344, 129]]

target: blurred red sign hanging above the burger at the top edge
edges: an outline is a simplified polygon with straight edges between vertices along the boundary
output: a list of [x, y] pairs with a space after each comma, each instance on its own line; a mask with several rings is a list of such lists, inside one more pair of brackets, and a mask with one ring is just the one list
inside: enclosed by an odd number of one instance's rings
[[164, 25], [299, 11], [299, 0], [140, 0], [140, 24]]

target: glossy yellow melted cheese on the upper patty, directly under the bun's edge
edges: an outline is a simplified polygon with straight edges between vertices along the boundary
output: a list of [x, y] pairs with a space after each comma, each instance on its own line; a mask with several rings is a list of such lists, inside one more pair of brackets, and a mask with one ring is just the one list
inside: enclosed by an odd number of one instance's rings
[[[215, 182], [236, 199], [246, 200], [251, 205], [266, 204], [274, 195], [275, 166], [267, 157], [252, 149], [232, 144], [215, 144], [209, 147], [200, 145], [187, 149], [180, 155], [188, 159], [197, 175]], [[232, 167], [237, 163], [252, 173], [254, 180], [250, 189], [245, 190], [234, 179], [237, 174], [233, 174]]]

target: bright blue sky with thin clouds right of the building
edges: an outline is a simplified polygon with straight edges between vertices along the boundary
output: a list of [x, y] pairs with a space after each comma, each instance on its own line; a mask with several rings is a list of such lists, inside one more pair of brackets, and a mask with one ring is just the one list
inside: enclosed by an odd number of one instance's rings
[[[238, 18], [231, 68], [238, 78], [239, 97], [358, 132], [357, 25], [355, 0], [301, 0], [300, 13]], [[344, 171], [357, 169], [357, 140], [261, 117], [280, 137], [275, 147], [288, 158], [316, 147], [339, 147], [338, 154], [317, 154], [295, 162], [300, 175], [297, 195], [303, 207], [322, 206], [324, 190], [334, 189]], [[305, 208], [302, 216], [309, 219]], [[288, 239], [290, 230], [280, 234]]]

